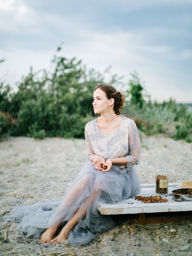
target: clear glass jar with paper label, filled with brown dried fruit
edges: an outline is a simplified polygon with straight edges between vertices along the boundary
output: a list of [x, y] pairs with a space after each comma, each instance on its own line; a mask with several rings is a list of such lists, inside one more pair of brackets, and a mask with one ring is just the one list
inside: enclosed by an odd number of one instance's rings
[[163, 164], [156, 171], [156, 193], [166, 194], [168, 192], [168, 171]]

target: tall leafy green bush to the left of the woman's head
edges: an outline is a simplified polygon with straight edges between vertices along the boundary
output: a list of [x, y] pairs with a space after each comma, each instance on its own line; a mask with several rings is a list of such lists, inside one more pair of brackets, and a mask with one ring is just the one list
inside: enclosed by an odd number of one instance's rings
[[[104, 77], [76, 58], [55, 55], [51, 62], [50, 72], [31, 67], [16, 92], [1, 84], [0, 110], [11, 113], [17, 126], [7, 126], [2, 119], [0, 136], [84, 138], [85, 124], [94, 118], [93, 89]], [[116, 81], [119, 78], [112, 75], [109, 83]]]

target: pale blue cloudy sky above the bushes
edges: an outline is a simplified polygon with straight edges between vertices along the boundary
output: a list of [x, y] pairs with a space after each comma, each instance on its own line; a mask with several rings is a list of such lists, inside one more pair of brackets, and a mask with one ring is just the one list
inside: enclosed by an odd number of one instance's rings
[[48, 69], [61, 42], [126, 86], [136, 71], [152, 100], [192, 103], [192, 0], [0, 0], [1, 80]]

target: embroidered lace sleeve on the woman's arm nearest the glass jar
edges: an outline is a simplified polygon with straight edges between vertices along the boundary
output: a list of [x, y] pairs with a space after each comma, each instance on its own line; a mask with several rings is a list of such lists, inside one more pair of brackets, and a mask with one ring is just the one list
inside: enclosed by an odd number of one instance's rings
[[130, 122], [129, 126], [129, 153], [127, 154], [127, 169], [132, 169], [133, 165], [138, 164], [141, 154], [141, 142], [138, 134], [137, 126], [134, 121]]

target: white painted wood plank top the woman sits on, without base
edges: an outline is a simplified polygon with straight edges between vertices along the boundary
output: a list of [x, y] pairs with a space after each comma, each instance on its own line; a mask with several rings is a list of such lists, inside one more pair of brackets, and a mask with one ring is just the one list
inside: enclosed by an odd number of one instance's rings
[[[180, 188], [181, 183], [169, 183], [166, 203], [149, 203], [144, 204], [133, 198], [128, 198], [116, 204], [104, 204], [99, 202], [98, 209], [103, 215], [110, 214], [135, 214], [135, 213], [152, 213], [152, 212], [178, 212], [192, 211], [192, 201], [177, 202], [172, 199], [172, 190]], [[155, 193], [155, 184], [142, 184], [139, 195], [150, 196], [160, 195]], [[129, 203], [129, 204], [128, 204]]]

